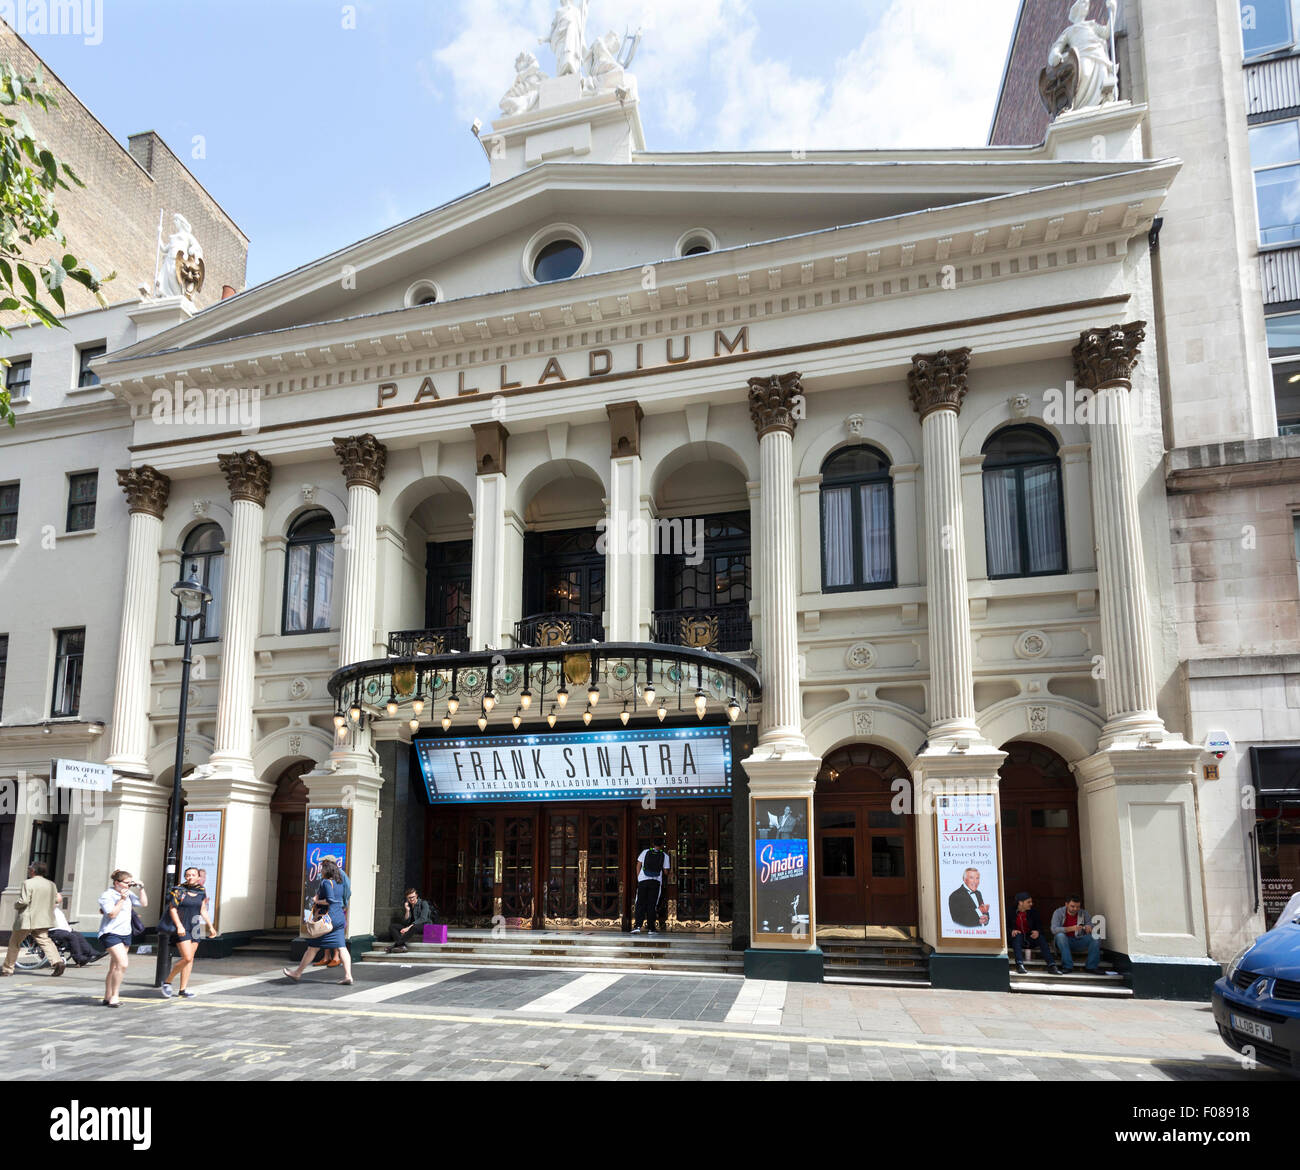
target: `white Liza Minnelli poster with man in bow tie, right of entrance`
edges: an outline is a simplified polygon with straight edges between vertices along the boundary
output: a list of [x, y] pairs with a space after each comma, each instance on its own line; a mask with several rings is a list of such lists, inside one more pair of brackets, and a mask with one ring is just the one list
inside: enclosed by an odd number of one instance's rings
[[1002, 897], [997, 872], [993, 793], [940, 796], [935, 806], [940, 936], [1000, 942]]

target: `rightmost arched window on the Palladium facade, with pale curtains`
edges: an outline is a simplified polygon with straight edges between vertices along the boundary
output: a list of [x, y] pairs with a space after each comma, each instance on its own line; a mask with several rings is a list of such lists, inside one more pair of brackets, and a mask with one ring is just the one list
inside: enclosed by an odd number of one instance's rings
[[989, 577], [1066, 571], [1061, 459], [1045, 430], [1008, 426], [984, 443], [984, 542]]

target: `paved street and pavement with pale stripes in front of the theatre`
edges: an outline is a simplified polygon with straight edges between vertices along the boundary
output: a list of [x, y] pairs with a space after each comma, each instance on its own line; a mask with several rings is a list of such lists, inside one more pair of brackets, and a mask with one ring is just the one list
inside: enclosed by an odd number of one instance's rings
[[[358, 963], [294, 984], [202, 962], [164, 1000], [133, 956], [0, 980], [0, 1079], [1287, 1080], [1248, 1067], [1208, 1004], [1078, 1000], [736, 975]], [[110, 1024], [110, 1027], [105, 1027]], [[1294, 1082], [1291, 1082], [1294, 1083]]]

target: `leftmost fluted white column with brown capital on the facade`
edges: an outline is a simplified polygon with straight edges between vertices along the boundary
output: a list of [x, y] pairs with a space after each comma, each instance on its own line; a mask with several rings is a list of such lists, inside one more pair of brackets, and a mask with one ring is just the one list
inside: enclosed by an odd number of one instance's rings
[[117, 473], [126, 493], [126, 593], [117, 649], [117, 689], [108, 763], [122, 772], [148, 772], [150, 646], [159, 603], [159, 549], [172, 481], [152, 467]]

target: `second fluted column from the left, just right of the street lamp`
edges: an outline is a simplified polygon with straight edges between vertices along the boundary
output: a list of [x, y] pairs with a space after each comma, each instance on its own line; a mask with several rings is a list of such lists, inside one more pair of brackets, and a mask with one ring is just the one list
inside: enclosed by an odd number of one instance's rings
[[218, 455], [230, 486], [229, 576], [221, 623], [221, 685], [213, 768], [252, 777], [254, 644], [261, 611], [261, 530], [270, 464], [256, 451]]

